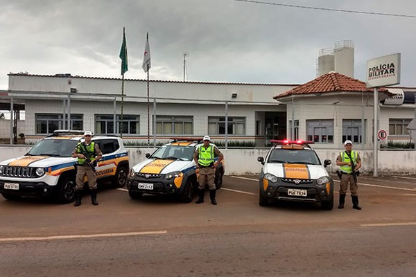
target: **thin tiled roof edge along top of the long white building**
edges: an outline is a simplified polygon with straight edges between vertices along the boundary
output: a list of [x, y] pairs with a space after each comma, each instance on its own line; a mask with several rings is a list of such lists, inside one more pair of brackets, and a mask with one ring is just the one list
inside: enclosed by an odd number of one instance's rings
[[[67, 74], [55, 74], [55, 75], [41, 75], [41, 74], [29, 74], [29, 73], [8, 73], [9, 76], [28, 76], [28, 77], [44, 77], [44, 78], [80, 78], [80, 79], [93, 79], [93, 80], [121, 80], [121, 78], [105, 78], [105, 77], [89, 77], [80, 75]], [[147, 82], [145, 79], [124, 79], [125, 81], [137, 81]], [[277, 86], [277, 87], [295, 87], [300, 84], [272, 84], [272, 83], [248, 83], [248, 82], [195, 82], [195, 81], [175, 81], [175, 80], [151, 80], [150, 82], [168, 82], [177, 84], [234, 84], [234, 85], [251, 85], [251, 86]]]

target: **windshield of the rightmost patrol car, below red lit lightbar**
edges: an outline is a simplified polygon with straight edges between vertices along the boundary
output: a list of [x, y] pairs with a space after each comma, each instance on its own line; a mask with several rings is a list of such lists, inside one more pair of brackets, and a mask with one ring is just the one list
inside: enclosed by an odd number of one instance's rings
[[269, 163], [301, 163], [320, 165], [313, 150], [274, 149], [268, 157]]

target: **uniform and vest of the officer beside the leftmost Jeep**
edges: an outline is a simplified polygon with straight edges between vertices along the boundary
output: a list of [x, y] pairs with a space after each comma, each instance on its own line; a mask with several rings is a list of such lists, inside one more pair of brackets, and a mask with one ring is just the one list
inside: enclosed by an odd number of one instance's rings
[[[89, 143], [88, 145], [85, 142], [80, 142], [76, 145], [75, 150], [72, 154], [83, 154], [85, 157], [91, 157], [91, 160], [96, 159], [96, 157], [103, 156], [98, 145], [94, 142]], [[76, 170], [76, 188], [75, 188], [75, 206], [81, 204], [82, 199], [82, 190], [84, 187], [85, 176], [87, 176], [89, 192], [91, 193], [91, 202], [93, 205], [98, 205], [97, 202], [97, 177], [92, 169], [91, 164], [87, 163], [86, 159], [78, 158], [77, 170]]]

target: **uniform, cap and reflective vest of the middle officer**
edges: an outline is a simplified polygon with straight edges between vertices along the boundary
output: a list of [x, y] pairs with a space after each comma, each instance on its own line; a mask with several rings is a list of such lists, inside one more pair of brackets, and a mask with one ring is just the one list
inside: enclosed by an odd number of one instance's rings
[[[209, 136], [204, 136], [204, 141], [211, 141]], [[219, 157], [218, 163], [223, 159], [223, 153], [218, 150], [215, 145], [209, 144], [208, 147], [200, 145], [193, 156], [199, 168], [199, 198], [196, 204], [204, 202], [205, 186], [209, 188], [209, 197], [211, 198], [211, 204], [216, 205], [216, 187], [215, 180], [215, 168], [214, 158]]]

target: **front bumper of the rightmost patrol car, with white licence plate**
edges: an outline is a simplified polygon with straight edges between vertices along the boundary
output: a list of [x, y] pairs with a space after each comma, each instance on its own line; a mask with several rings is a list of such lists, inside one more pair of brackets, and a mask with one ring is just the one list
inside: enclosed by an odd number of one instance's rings
[[[289, 190], [302, 190], [302, 193], [306, 195], [289, 195]], [[298, 202], [328, 202], [333, 198], [333, 183], [327, 186], [318, 186], [316, 184], [311, 185], [291, 185], [291, 184], [269, 184], [266, 191], [263, 190], [263, 184], [261, 184], [260, 193], [263, 197], [268, 199], [277, 199], [282, 201], [298, 201]]]

